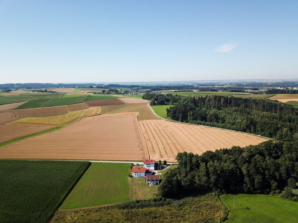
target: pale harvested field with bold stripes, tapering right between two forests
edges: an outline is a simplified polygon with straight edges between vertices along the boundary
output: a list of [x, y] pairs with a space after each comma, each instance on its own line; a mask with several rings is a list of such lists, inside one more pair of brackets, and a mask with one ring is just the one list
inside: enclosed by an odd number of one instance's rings
[[175, 161], [177, 153], [202, 154], [232, 146], [257, 145], [267, 141], [258, 136], [165, 120], [140, 121], [150, 158]]

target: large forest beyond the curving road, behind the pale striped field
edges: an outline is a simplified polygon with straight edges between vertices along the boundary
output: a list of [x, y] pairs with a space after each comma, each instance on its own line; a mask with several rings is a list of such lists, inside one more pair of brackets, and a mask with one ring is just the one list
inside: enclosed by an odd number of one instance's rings
[[232, 129], [277, 140], [298, 138], [298, 112], [269, 99], [225, 96], [176, 97], [167, 117], [179, 122]]

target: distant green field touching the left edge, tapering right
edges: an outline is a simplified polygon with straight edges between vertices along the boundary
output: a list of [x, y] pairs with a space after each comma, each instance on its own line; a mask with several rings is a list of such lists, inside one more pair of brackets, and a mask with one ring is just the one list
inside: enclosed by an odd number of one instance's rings
[[[0, 97], [1, 104], [10, 104], [23, 101], [31, 101], [37, 99], [50, 99], [50, 98], [60, 98], [62, 95], [59, 94], [44, 94], [44, 95], [35, 95], [35, 94], [23, 94], [23, 95], [3, 95]], [[25, 103], [26, 104], [26, 103]]]

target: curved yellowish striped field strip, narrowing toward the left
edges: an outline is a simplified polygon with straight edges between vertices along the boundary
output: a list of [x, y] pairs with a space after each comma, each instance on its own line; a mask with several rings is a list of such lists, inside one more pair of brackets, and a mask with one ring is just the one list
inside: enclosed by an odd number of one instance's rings
[[74, 123], [85, 117], [98, 115], [100, 114], [100, 111], [100, 107], [91, 107], [62, 115], [21, 118], [19, 120], [13, 121], [12, 124], [64, 126]]

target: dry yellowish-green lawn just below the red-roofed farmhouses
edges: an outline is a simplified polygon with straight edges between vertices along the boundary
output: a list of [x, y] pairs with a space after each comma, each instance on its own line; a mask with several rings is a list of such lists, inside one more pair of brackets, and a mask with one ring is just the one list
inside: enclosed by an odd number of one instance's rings
[[128, 178], [128, 195], [130, 200], [151, 199], [158, 186], [146, 185], [143, 177]]

